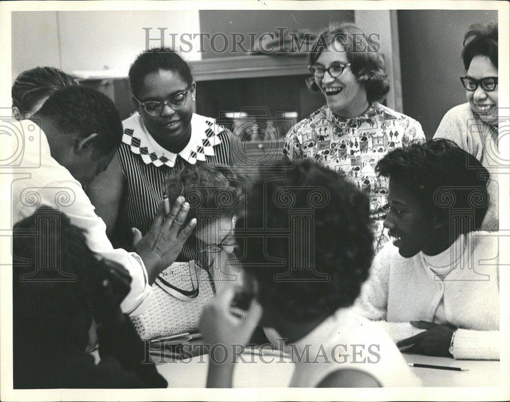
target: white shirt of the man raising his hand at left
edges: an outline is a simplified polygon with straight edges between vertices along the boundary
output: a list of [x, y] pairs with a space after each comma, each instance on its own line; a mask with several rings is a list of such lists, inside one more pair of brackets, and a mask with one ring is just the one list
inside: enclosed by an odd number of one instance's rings
[[[122, 301], [124, 313], [141, 314], [147, 305], [150, 286], [141, 258], [123, 249], [114, 249], [106, 235], [106, 225], [94, 212], [94, 206], [79, 181], [50, 154], [45, 133], [34, 130], [29, 120], [12, 123], [21, 132], [36, 136], [24, 149], [21, 177], [12, 181], [12, 224], [30, 217], [38, 207], [48, 206], [64, 212], [71, 223], [86, 232], [87, 244], [92, 252], [122, 264], [131, 275], [131, 290]], [[38, 128], [36, 126], [36, 128]], [[34, 132], [36, 134], [34, 134]], [[32, 137], [31, 137], [32, 138]]]

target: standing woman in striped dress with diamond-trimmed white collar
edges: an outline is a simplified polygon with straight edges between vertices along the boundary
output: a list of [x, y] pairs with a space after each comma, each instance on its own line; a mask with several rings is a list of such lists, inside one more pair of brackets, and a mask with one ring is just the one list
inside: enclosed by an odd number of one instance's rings
[[[140, 53], [129, 79], [137, 112], [122, 122], [117, 157], [88, 191], [112, 244], [127, 250], [132, 230], [135, 238], [148, 231], [170, 176], [197, 163], [230, 165], [230, 132], [193, 113], [196, 84], [175, 51]], [[177, 261], [193, 259], [186, 244]]]

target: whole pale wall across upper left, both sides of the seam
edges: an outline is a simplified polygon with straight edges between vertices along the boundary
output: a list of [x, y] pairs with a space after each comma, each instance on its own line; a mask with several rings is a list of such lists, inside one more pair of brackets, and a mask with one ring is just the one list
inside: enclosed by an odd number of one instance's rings
[[[55, 66], [66, 72], [103, 70], [105, 66], [127, 75], [135, 57], [145, 49], [146, 33], [160, 38], [158, 28], [166, 28], [164, 45], [171, 46], [170, 33], [199, 34], [198, 11], [59, 11], [14, 12], [12, 18], [12, 76], [36, 66]], [[187, 40], [187, 38], [186, 38]], [[199, 60], [199, 37], [193, 51], [182, 53]], [[150, 41], [149, 47], [160, 45]], [[187, 50], [189, 46], [182, 44]]]

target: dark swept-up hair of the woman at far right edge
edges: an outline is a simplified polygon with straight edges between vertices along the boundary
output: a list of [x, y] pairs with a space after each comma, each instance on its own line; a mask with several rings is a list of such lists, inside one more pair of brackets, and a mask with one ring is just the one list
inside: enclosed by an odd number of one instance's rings
[[490, 21], [485, 24], [474, 24], [464, 35], [462, 60], [464, 68], [469, 69], [475, 56], [487, 56], [492, 64], [498, 67], [498, 23]]

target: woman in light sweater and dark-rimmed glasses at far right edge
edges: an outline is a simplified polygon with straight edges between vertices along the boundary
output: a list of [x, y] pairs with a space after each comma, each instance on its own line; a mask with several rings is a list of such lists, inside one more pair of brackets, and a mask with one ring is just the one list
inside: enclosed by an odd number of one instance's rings
[[[476, 157], [489, 172], [501, 164], [498, 151], [498, 24], [472, 25], [464, 36], [461, 77], [467, 103], [450, 109], [434, 138], [447, 138]], [[491, 203], [481, 229], [499, 227], [498, 186], [489, 181]]]

